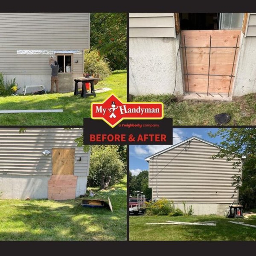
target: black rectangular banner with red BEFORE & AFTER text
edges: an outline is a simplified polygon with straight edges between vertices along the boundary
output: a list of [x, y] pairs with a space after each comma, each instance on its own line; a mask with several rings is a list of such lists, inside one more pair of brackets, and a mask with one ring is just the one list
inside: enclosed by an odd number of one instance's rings
[[114, 128], [103, 120], [84, 118], [84, 145], [172, 145], [172, 118], [123, 120]]

